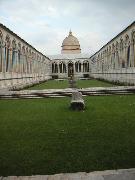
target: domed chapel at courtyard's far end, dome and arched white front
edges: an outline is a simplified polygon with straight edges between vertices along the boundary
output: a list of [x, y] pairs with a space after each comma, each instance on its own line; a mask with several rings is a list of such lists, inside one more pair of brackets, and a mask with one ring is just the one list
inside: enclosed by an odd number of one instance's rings
[[52, 60], [52, 77], [68, 78], [89, 76], [89, 55], [82, 54], [79, 40], [69, 31], [62, 42], [61, 54], [50, 56]]

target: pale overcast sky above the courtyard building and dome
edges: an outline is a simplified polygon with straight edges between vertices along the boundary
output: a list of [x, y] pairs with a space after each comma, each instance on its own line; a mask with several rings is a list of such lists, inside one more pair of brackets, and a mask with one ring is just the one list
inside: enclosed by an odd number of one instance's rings
[[0, 0], [0, 22], [45, 55], [71, 28], [92, 54], [135, 20], [135, 0]]

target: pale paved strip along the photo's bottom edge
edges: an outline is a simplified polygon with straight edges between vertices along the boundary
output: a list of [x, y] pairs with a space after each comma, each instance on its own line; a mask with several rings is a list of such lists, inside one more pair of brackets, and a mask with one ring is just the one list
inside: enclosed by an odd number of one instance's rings
[[36, 176], [8, 176], [0, 180], [135, 180], [135, 168]]

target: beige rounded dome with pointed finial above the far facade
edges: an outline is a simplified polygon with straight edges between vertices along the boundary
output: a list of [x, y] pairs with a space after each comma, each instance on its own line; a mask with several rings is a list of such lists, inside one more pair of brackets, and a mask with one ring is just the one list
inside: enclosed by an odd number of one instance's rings
[[62, 54], [78, 54], [81, 53], [80, 44], [78, 39], [69, 32], [68, 37], [63, 40]]

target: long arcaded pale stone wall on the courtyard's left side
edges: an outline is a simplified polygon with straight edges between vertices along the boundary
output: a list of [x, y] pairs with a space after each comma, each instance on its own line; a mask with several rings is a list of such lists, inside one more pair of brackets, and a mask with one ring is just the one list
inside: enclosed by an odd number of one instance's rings
[[0, 88], [50, 78], [50, 59], [0, 24]]

